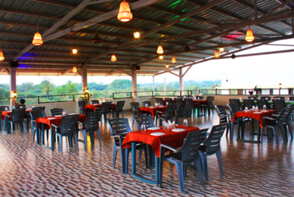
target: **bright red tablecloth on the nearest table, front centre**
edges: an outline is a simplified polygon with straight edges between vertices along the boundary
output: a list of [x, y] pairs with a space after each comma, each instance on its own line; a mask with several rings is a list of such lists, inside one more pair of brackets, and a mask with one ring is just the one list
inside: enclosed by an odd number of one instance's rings
[[[169, 146], [172, 146], [174, 148], [180, 148], [183, 145], [183, 139], [188, 136], [188, 133], [191, 131], [197, 131], [199, 130], [198, 127], [186, 127], [179, 125], [177, 128], [183, 128], [185, 131], [181, 132], [174, 132], [174, 131], [163, 131], [163, 129], [159, 130], [146, 130], [145, 133], [142, 133], [141, 131], [132, 131], [127, 133], [126, 138], [123, 142], [123, 148], [131, 148], [131, 142], [143, 142], [146, 144], [149, 144], [152, 148], [154, 153], [157, 155], [157, 157], [160, 157], [160, 145], [166, 144]], [[164, 132], [165, 135], [161, 136], [154, 136], [150, 135], [150, 133], [153, 132]]]

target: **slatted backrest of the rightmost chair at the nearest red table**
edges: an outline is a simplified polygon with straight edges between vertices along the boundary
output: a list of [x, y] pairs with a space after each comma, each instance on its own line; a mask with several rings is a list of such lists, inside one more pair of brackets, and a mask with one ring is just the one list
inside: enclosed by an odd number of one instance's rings
[[211, 128], [210, 135], [205, 140], [208, 155], [214, 154], [220, 147], [220, 139], [227, 129], [228, 124], [215, 125]]

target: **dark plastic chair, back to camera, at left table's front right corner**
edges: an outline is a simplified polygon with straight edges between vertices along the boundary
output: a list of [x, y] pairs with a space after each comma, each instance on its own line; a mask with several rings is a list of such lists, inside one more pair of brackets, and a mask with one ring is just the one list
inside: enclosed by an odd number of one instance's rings
[[75, 138], [77, 149], [79, 150], [78, 132], [79, 132], [79, 116], [80, 114], [62, 116], [61, 124], [51, 126], [55, 129], [55, 135], [59, 137], [60, 152], [62, 152], [62, 137], [68, 137], [69, 147], [73, 147], [72, 137]]

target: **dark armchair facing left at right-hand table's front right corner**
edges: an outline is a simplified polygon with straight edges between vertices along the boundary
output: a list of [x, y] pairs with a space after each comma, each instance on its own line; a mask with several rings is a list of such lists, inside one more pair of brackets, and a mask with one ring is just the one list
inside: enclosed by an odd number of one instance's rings
[[[267, 128], [268, 139], [270, 139], [270, 137], [273, 136], [273, 134], [274, 134], [276, 136], [276, 142], [277, 142], [277, 144], [279, 144], [279, 131], [281, 130], [283, 139], [284, 139], [284, 141], [286, 140], [286, 132], [284, 131], [284, 120], [285, 120], [285, 116], [289, 112], [289, 110], [290, 110], [289, 107], [283, 108], [280, 111], [280, 114], [277, 118], [273, 118], [273, 117], [271, 117], [271, 118], [270, 117], [263, 117], [262, 118], [263, 128], [262, 128], [262, 132], [261, 132], [261, 143], [262, 143], [263, 131], [265, 128]], [[270, 120], [270, 122], [267, 123], [266, 120]], [[270, 132], [269, 129], [273, 130], [273, 134]]]

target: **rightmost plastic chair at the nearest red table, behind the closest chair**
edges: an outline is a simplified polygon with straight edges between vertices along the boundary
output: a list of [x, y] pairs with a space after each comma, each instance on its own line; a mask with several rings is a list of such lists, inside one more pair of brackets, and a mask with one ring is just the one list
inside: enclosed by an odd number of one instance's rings
[[199, 154], [202, 162], [205, 180], [208, 181], [208, 164], [207, 156], [216, 154], [220, 174], [223, 175], [221, 152], [220, 152], [220, 139], [228, 127], [227, 124], [215, 125], [211, 128], [210, 135], [199, 147]]

